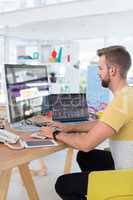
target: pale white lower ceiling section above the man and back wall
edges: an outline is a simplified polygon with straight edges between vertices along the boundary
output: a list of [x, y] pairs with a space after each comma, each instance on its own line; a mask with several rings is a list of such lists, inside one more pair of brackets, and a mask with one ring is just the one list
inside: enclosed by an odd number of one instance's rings
[[38, 40], [133, 34], [132, 21], [132, 0], [81, 0], [0, 14], [1, 34]]

